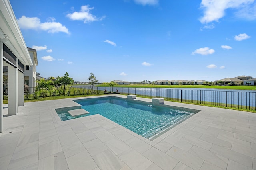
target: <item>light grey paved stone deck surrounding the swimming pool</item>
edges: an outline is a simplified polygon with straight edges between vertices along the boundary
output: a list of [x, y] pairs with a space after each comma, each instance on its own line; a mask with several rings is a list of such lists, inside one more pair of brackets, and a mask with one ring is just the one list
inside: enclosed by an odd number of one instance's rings
[[4, 116], [0, 169], [256, 169], [256, 113], [164, 101], [201, 111], [150, 141], [101, 115], [60, 121], [55, 109], [78, 107], [74, 99], [28, 102]]

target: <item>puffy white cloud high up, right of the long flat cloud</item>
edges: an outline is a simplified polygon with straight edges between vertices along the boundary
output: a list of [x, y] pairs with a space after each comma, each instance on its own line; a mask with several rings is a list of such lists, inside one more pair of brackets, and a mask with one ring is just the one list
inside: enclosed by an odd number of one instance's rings
[[89, 5], [81, 6], [81, 10], [79, 12], [73, 12], [72, 14], [67, 14], [66, 16], [71, 20], [81, 20], [84, 23], [89, 23], [93, 21], [103, 20], [106, 16], [102, 16], [101, 18], [97, 18], [93, 14], [90, 13], [90, 10], [93, 10], [94, 7], [89, 8]]

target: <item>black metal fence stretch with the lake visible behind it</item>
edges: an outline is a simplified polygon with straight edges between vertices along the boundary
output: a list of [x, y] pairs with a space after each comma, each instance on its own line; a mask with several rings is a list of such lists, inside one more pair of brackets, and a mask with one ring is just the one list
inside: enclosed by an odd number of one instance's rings
[[[98, 87], [99, 90], [109, 89]], [[221, 90], [186, 90], [173, 88], [126, 88], [115, 87], [120, 94], [136, 94], [146, 98], [164, 98], [168, 101], [256, 110], [256, 92]]]

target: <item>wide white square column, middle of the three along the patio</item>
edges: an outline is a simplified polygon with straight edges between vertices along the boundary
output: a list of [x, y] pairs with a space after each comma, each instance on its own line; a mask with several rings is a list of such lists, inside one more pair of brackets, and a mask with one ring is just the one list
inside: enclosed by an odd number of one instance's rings
[[[16, 59], [18, 66], [18, 59]], [[8, 67], [8, 115], [18, 113], [18, 68]]]

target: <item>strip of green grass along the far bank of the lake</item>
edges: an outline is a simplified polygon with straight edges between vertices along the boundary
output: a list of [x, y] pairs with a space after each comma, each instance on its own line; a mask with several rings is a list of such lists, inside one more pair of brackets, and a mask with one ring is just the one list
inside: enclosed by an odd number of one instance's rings
[[[106, 87], [105, 85], [97, 85]], [[234, 90], [256, 90], [256, 86], [204, 86], [204, 85], [155, 85], [155, 84], [129, 84], [118, 85], [115, 87], [138, 87], [138, 88], [216, 88], [216, 89], [234, 89]], [[107, 88], [109, 88], [107, 86]]]

